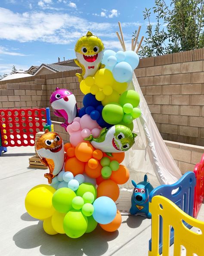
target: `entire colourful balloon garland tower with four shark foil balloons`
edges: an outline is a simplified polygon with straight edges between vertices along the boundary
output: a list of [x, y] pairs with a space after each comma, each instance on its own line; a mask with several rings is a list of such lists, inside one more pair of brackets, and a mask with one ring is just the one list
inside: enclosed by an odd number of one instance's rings
[[35, 186], [25, 198], [26, 210], [43, 221], [47, 234], [72, 238], [92, 232], [97, 223], [109, 232], [120, 227], [115, 205], [118, 184], [130, 177], [121, 163], [137, 136], [133, 120], [141, 114], [139, 94], [127, 90], [139, 64], [134, 51], [104, 51], [102, 41], [87, 32], [77, 41], [75, 52], [83, 71], [76, 74], [85, 95], [83, 108], [77, 109], [67, 89], [57, 87], [52, 93], [50, 104], [55, 115], [65, 118], [62, 126], [70, 143], [64, 145], [58, 134], [48, 131], [38, 138], [50, 186]]

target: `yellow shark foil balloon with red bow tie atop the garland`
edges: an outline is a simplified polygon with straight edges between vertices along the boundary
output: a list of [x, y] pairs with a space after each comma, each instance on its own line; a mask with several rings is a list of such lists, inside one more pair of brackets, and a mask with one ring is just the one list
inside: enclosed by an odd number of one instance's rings
[[87, 35], [82, 36], [75, 45], [77, 59], [75, 63], [82, 68], [82, 74], [76, 76], [81, 82], [86, 77], [93, 77], [99, 68], [104, 67], [101, 64], [104, 52], [104, 45], [100, 38], [88, 31]]

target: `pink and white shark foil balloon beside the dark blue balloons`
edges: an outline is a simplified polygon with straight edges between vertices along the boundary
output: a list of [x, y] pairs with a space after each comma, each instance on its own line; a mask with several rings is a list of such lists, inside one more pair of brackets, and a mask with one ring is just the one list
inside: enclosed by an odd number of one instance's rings
[[50, 96], [49, 102], [54, 109], [54, 114], [65, 118], [65, 122], [61, 126], [67, 131], [67, 126], [77, 116], [77, 102], [74, 94], [67, 89], [56, 87], [56, 90]]

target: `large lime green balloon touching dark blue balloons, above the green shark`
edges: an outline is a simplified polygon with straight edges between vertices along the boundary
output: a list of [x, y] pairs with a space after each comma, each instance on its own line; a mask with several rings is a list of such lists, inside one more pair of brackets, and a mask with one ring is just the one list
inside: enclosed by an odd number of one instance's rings
[[117, 103], [107, 104], [102, 110], [102, 117], [104, 121], [111, 125], [117, 125], [122, 121], [123, 116], [123, 108]]

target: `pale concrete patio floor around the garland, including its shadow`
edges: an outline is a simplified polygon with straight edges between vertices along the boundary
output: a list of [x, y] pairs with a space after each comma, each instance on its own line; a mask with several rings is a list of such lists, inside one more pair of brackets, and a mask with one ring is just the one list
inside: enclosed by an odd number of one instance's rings
[[[1, 256], [148, 255], [151, 220], [140, 216], [122, 216], [121, 227], [113, 233], [97, 227], [78, 239], [46, 234], [42, 221], [28, 215], [24, 206], [27, 192], [38, 184], [46, 184], [46, 170], [28, 167], [28, 158], [33, 155], [34, 147], [8, 147], [8, 152], [0, 157]], [[204, 207], [198, 219], [204, 221]], [[170, 251], [173, 255], [172, 248]]]

